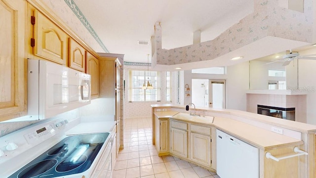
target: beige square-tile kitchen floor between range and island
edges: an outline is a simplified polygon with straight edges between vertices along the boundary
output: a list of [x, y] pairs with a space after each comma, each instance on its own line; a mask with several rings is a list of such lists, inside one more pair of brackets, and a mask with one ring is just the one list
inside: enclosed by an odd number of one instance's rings
[[158, 156], [152, 144], [151, 118], [125, 119], [124, 149], [119, 150], [113, 178], [220, 178], [173, 156]]

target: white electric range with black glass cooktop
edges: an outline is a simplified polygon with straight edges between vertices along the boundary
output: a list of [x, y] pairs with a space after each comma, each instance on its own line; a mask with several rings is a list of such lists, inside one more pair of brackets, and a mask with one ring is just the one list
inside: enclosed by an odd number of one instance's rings
[[57, 119], [4, 135], [0, 178], [96, 178], [111, 172], [113, 127], [115, 121]]

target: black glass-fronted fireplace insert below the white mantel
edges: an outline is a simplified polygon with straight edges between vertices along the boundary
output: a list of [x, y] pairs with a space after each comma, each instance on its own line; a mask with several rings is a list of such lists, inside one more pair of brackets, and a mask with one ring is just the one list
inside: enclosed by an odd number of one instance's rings
[[259, 104], [257, 106], [258, 114], [295, 121], [295, 108], [281, 108]]

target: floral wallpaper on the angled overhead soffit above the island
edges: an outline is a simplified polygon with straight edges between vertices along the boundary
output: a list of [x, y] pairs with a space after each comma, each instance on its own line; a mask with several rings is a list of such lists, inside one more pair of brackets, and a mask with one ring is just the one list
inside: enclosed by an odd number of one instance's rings
[[[174, 49], [161, 48], [161, 24], [155, 24], [156, 64], [173, 65], [211, 60], [267, 36], [311, 43], [312, 0], [304, 1], [304, 13], [278, 6], [278, 0], [254, 0], [254, 12], [216, 39]], [[260, 49], [258, 49], [260, 50]]]

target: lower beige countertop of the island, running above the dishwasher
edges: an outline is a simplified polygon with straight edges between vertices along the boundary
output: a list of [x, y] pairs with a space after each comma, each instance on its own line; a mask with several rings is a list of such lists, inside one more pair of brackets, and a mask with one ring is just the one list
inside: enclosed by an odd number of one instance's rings
[[176, 111], [160, 111], [154, 112], [155, 116], [160, 118], [172, 118], [188, 123], [200, 123], [203, 125], [210, 125], [219, 129], [227, 134], [230, 134], [238, 139], [241, 139], [253, 146], [258, 147], [262, 150], [270, 150], [276, 147], [284, 147], [291, 145], [301, 145], [304, 144], [302, 140], [295, 139], [289, 136], [276, 134], [265, 129], [261, 129], [243, 122], [236, 121], [234, 119], [214, 117], [212, 123], [209, 121], [204, 122], [203, 120], [190, 120], [190, 119], [180, 119], [174, 117], [179, 112]]

